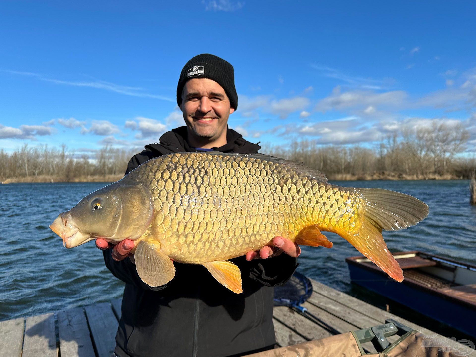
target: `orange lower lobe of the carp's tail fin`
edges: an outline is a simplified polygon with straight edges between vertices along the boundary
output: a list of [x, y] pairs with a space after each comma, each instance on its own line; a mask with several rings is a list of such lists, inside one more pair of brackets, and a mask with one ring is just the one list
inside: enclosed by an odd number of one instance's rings
[[374, 226], [371, 221], [364, 220], [357, 231], [349, 231], [342, 236], [352, 244], [360, 253], [365, 255], [378, 268], [385, 271], [390, 278], [402, 282], [403, 272], [392, 253], [388, 251], [387, 244], [382, 237], [382, 230]]

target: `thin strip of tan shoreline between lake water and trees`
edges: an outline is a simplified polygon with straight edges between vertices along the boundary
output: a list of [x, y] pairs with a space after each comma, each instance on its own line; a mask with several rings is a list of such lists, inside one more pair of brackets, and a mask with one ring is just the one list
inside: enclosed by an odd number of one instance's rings
[[[75, 178], [57, 176], [30, 176], [19, 178], [5, 178], [0, 184], [9, 183], [86, 183], [86, 182], [116, 182], [123, 178], [123, 175], [89, 175]], [[465, 180], [469, 178], [457, 177], [456, 175], [406, 175], [401, 173], [378, 172], [373, 174], [352, 175], [334, 174], [329, 175], [329, 181], [428, 181], [428, 180]]]

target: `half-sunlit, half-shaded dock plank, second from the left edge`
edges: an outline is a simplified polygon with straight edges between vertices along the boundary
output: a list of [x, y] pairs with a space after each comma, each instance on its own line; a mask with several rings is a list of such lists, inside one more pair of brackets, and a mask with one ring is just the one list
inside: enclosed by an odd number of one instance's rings
[[57, 357], [55, 320], [52, 313], [27, 317], [22, 357]]

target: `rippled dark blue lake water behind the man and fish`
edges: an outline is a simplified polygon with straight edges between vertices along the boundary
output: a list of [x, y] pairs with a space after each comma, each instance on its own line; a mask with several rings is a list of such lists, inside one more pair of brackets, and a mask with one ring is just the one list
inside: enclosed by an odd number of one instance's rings
[[[422, 250], [468, 263], [476, 260], [476, 207], [468, 181], [339, 181], [347, 187], [387, 188], [415, 196], [430, 215], [417, 226], [384, 232], [391, 251]], [[0, 320], [55, 312], [121, 297], [124, 284], [104, 266], [94, 241], [63, 248], [48, 225], [60, 212], [105, 186], [101, 183], [0, 185]], [[326, 234], [334, 247], [303, 247], [298, 271], [350, 292], [347, 241]]]

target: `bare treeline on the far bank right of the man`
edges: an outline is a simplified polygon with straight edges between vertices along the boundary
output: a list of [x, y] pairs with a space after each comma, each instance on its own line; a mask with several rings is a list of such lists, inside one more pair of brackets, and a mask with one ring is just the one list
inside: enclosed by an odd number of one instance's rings
[[372, 148], [359, 145], [322, 146], [313, 140], [265, 146], [269, 155], [302, 161], [330, 179], [469, 178], [473, 158], [456, 154], [466, 150], [469, 134], [461, 125], [434, 123], [430, 128], [406, 129]]

